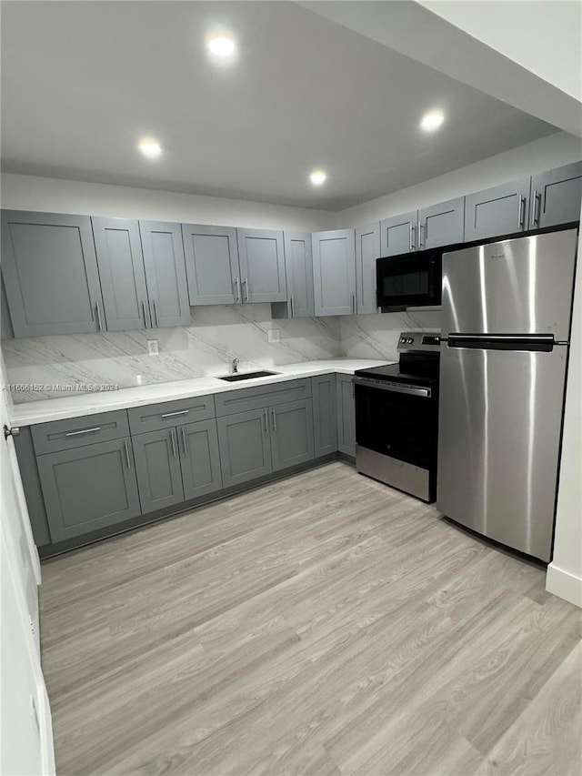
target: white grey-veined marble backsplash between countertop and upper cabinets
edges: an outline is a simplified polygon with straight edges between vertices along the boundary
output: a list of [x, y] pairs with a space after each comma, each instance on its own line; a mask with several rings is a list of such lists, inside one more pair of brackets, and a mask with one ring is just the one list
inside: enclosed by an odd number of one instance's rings
[[[321, 358], [397, 359], [400, 331], [438, 329], [438, 313], [272, 320], [270, 305], [191, 307], [189, 328], [5, 339], [14, 403], [70, 395], [86, 385], [135, 385], [226, 374]], [[267, 341], [278, 329], [280, 341]], [[147, 354], [157, 339], [159, 356]], [[72, 388], [71, 388], [72, 387]]]

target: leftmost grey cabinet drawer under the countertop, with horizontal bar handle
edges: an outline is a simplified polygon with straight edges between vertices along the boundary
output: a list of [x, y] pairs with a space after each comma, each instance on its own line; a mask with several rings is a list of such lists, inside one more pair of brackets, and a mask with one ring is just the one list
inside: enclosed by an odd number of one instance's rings
[[125, 409], [38, 423], [31, 431], [37, 456], [129, 436]]

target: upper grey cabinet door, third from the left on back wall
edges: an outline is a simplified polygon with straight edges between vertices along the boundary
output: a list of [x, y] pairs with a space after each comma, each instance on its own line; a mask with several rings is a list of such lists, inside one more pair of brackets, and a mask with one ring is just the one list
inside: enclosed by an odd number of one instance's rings
[[189, 326], [186, 262], [179, 224], [140, 221], [152, 326]]

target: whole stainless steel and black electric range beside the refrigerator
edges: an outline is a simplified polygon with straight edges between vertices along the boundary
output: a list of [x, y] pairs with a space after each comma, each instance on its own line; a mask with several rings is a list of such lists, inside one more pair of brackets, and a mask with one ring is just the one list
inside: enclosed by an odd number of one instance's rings
[[437, 489], [440, 336], [405, 331], [400, 359], [359, 369], [356, 397], [356, 469], [423, 501]]

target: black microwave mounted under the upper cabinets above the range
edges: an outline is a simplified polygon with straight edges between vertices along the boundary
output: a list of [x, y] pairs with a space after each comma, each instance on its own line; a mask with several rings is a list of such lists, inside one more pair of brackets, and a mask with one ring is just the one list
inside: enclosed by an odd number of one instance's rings
[[442, 250], [423, 250], [376, 260], [377, 306], [382, 312], [440, 305]]

